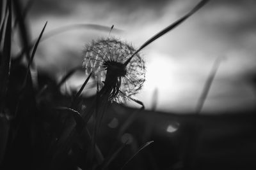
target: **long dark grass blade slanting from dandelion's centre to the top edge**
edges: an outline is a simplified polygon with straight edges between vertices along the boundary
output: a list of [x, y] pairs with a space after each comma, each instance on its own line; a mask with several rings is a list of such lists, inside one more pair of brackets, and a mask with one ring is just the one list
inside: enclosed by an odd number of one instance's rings
[[202, 0], [200, 1], [200, 3], [198, 3], [195, 8], [193, 8], [191, 11], [189, 11], [189, 13], [187, 13], [186, 15], [184, 15], [184, 17], [180, 18], [179, 20], [177, 20], [176, 22], [174, 22], [173, 24], [169, 25], [168, 27], [164, 28], [162, 31], [158, 32], [156, 35], [152, 36], [152, 38], [148, 39], [143, 45], [140, 46], [140, 48], [138, 50], [136, 50], [136, 52], [134, 52], [131, 57], [129, 59], [127, 59], [125, 61], [125, 65], [127, 65], [130, 60], [132, 59], [132, 57], [134, 57], [134, 55], [136, 55], [136, 53], [140, 52], [140, 50], [142, 50], [143, 48], [145, 48], [145, 46], [148, 46], [150, 43], [152, 43], [153, 41], [155, 41], [156, 39], [160, 38], [161, 36], [163, 36], [164, 34], [166, 34], [167, 32], [171, 31], [172, 29], [174, 29], [175, 27], [177, 27], [178, 25], [180, 25], [182, 22], [184, 22], [187, 18], [189, 18], [191, 15], [193, 15], [196, 11], [198, 11], [200, 8], [202, 8], [202, 6], [204, 6], [209, 0]]

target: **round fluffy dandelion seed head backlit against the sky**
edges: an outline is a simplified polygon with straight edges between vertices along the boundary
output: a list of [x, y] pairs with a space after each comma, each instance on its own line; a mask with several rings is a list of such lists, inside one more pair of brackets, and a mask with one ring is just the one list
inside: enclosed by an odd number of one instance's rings
[[110, 101], [124, 103], [143, 86], [145, 62], [139, 53], [134, 55], [135, 52], [132, 45], [116, 38], [98, 39], [86, 46], [83, 61], [85, 73], [87, 76], [93, 73], [100, 91], [109, 93]]

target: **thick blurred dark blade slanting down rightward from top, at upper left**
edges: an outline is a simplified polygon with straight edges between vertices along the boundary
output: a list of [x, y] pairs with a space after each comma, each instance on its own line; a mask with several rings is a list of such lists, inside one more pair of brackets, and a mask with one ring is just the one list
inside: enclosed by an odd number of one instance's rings
[[[13, 1], [13, 9], [14, 9], [14, 13], [15, 13], [15, 17], [17, 17], [17, 21], [19, 24], [19, 31], [20, 31], [20, 38], [22, 39], [22, 45], [23, 45], [23, 50], [24, 53], [26, 54], [26, 59], [29, 61], [29, 32], [28, 32], [28, 28], [27, 25], [25, 23], [24, 17], [22, 15], [22, 11], [21, 11], [21, 5], [20, 5], [20, 1], [19, 0], [15, 0]], [[34, 45], [34, 43], [33, 43]], [[33, 45], [31, 45], [31, 49], [33, 48]], [[23, 54], [24, 54], [23, 53]], [[23, 56], [22, 54], [22, 56]]]

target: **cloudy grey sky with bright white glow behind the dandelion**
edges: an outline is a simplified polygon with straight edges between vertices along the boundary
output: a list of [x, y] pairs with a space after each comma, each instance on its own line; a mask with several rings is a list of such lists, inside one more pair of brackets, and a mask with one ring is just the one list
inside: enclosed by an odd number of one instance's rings
[[[189, 12], [199, 1], [36, 0], [28, 14], [31, 38], [72, 24], [99, 24], [111, 36], [139, 48], [147, 39]], [[146, 109], [193, 112], [212, 65], [222, 57], [203, 112], [252, 109], [256, 102], [256, 1], [212, 0], [186, 22], [141, 51], [146, 81], [137, 99]], [[74, 29], [40, 43], [36, 66], [56, 80], [81, 66], [84, 45], [108, 37], [109, 30]], [[74, 76], [67, 86], [79, 88], [86, 77]], [[86, 92], [90, 95], [90, 92]], [[155, 99], [154, 99], [155, 98]], [[138, 104], [127, 103], [129, 106]]]

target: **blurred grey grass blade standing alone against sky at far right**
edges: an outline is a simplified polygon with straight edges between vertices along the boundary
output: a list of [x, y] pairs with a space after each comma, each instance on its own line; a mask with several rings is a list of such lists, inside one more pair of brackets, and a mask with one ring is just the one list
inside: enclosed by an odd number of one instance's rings
[[218, 71], [218, 68], [220, 67], [220, 63], [223, 57], [218, 57], [212, 66], [211, 73], [209, 74], [209, 77], [205, 81], [204, 89], [202, 90], [202, 94], [198, 99], [198, 104], [196, 106], [196, 114], [199, 114], [202, 111], [202, 108], [205, 103], [205, 99], [207, 98], [207, 95], [209, 94], [209, 90], [212, 85], [212, 81], [214, 80], [214, 77]]

